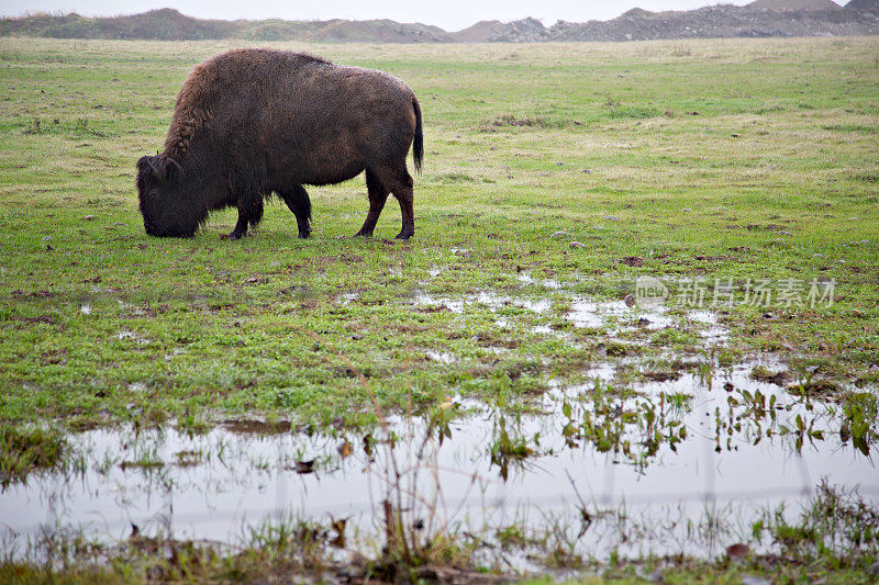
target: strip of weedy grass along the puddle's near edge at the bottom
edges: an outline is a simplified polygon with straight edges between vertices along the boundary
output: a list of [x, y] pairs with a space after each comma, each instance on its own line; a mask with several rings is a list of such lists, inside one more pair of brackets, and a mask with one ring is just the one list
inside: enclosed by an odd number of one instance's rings
[[[600, 571], [620, 583], [641, 583], [645, 573], [668, 583], [737, 583], [743, 575], [780, 577], [794, 582], [825, 578], [832, 583], [872, 583], [870, 567], [879, 554], [879, 508], [875, 499], [823, 482], [802, 510], [785, 506], [750, 510], [732, 505], [706, 507], [689, 516], [669, 508], [650, 517], [625, 505], [591, 507], [582, 518], [545, 517], [543, 526], [522, 519], [505, 521], [479, 535], [446, 532], [434, 541], [434, 553], [407, 564], [383, 543], [382, 552], [338, 554], [355, 547], [342, 519], [304, 520], [285, 516], [246, 528], [240, 542], [224, 547], [133, 531], [122, 547], [107, 547], [75, 530], [47, 529], [19, 551], [18, 561], [4, 556], [0, 582], [257, 582], [327, 575], [386, 582], [419, 580], [497, 583], [511, 560], [527, 558], [535, 566], [583, 571], [582, 583], [604, 583]], [[608, 542], [675, 541], [681, 551], [711, 549], [715, 554], [694, 559], [686, 553], [660, 560], [610, 545], [610, 562], [583, 550], [579, 540], [596, 536]], [[735, 543], [741, 558], [725, 554]], [[779, 549], [782, 554], [779, 555]], [[8, 551], [3, 551], [4, 554]], [[48, 559], [51, 562], [46, 563]], [[641, 576], [638, 576], [641, 575]], [[505, 580], [502, 580], [505, 581]], [[579, 582], [579, 581], [578, 581]], [[534, 583], [549, 583], [537, 581]]]

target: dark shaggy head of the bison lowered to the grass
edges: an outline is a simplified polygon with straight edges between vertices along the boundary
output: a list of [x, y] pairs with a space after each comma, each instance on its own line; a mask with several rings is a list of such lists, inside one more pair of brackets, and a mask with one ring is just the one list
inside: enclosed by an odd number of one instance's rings
[[192, 237], [207, 216], [198, 198], [188, 196], [182, 167], [164, 154], [137, 161], [137, 196], [149, 236]]

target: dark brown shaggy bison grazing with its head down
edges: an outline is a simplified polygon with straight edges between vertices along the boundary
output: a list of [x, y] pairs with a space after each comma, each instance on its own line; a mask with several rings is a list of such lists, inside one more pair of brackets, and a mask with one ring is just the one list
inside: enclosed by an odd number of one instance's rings
[[358, 236], [371, 236], [393, 193], [403, 227], [415, 233], [410, 145], [421, 170], [421, 108], [396, 77], [318, 57], [240, 49], [196, 67], [183, 83], [165, 151], [137, 161], [137, 191], [151, 236], [192, 236], [212, 210], [238, 209], [237, 239], [277, 193], [311, 232], [303, 184], [331, 184], [366, 170], [369, 213]]

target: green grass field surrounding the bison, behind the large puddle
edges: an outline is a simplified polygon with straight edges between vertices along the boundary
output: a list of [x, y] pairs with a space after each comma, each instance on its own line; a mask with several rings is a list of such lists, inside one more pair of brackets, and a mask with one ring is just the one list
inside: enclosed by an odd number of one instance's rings
[[[419, 95], [415, 237], [390, 240], [392, 199], [376, 238], [351, 237], [358, 178], [309, 190], [308, 240], [279, 200], [241, 241], [220, 239], [233, 211], [192, 239], [149, 238], [135, 161], [162, 148], [190, 68], [233, 46], [0, 40], [4, 428], [359, 428], [449, 396], [535, 396], [582, 382], [620, 341], [574, 327], [572, 297], [621, 300], [639, 275], [834, 281], [830, 306], [719, 311], [721, 358], [817, 365], [809, 383], [843, 404], [875, 395], [879, 40], [272, 45]], [[420, 301], [480, 294], [548, 310]], [[622, 341], [664, 360], [701, 351], [694, 335]]]

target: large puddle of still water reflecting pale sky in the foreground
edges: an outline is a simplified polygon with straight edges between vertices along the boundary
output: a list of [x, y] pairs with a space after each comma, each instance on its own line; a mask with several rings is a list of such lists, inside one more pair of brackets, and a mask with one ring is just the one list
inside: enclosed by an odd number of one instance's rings
[[[234, 542], [242, 525], [293, 513], [347, 517], [361, 535], [375, 537], [392, 452], [407, 477], [420, 477], [426, 499], [437, 493], [435, 472], [441, 520], [474, 529], [523, 517], [535, 527], [572, 518], [580, 497], [593, 510], [625, 506], [631, 521], [635, 515], [641, 522], [680, 515], [677, 539], [647, 538], [632, 550], [635, 555], [690, 547], [687, 521], [706, 505], [756, 510], [783, 500], [795, 509], [822, 477], [879, 493], [874, 459], [844, 442], [838, 426], [833, 432], [835, 415], [752, 380], [753, 367], [704, 381], [688, 372], [620, 395], [607, 385], [613, 365], [602, 364], [590, 372], [604, 381], [598, 390], [596, 383], [550, 384], [539, 414], [516, 416], [470, 401], [467, 412], [474, 414], [452, 419], [443, 441], [433, 437], [423, 451], [416, 447], [427, 427], [423, 419], [391, 419], [398, 437], [392, 450], [374, 439], [303, 436], [289, 423], [263, 436], [246, 425], [201, 436], [88, 431], [71, 437], [85, 463], [80, 470], [35, 474], [5, 487], [0, 517], [9, 530], [25, 535], [38, 525], [78, 526], [120, 539], [134, 524], [144, 532], [164, 527], [177, 538]], [[790, 430], [798, 417], [805, 420], [805, 436]], [[503, 437], [512, 449], [502, 447]], [[345, 443], [349, 457], [343, 457]], [[609, 553], [619, 544], [617, 520], [609, 518], [603, 528], [597, 521], [579, 541], [582, 551]]]

